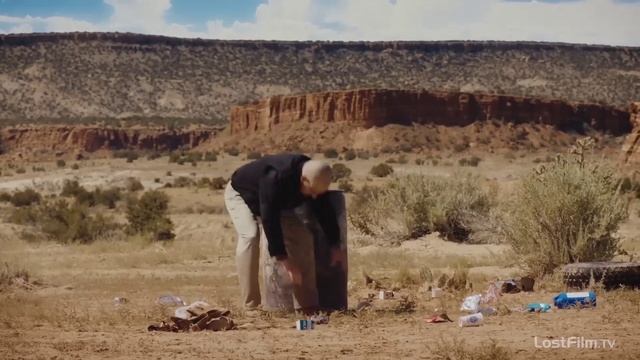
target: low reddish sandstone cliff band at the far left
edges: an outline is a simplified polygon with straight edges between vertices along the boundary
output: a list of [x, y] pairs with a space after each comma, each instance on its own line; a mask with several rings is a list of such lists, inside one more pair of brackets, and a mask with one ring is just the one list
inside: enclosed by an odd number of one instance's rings
[[211, 140], [219, 129], [110, 128], [35, 126], [5, 128], [0, 143], [5, 152], [50, 154], [99, 150], [175, 150], [194, 148]]

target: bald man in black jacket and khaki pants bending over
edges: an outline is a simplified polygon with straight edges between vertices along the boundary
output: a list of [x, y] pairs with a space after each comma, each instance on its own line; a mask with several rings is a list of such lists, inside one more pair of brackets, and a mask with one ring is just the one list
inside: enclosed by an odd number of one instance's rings
[[[295, 236], [298, 230], [293, 209], [304, 203], [310, 205], [330, 242], [331, 264], [343, 261], [336, 215], [324, 196], [331, 180], [331, 167], [327, 163], [302, 154], [265, 156], [233, 173], [225, 190], [225, 205], [238, 233], [236, 265], [245, 309], [253, 310], [261, 301], [260, 227], [269, 254], [285, 267], [291, 278], [297, 309], [312, 312], [317, 308], [313, 242], [309, 243], [308, 236]], [[292, 234], [286, 234], [287, 231]]]

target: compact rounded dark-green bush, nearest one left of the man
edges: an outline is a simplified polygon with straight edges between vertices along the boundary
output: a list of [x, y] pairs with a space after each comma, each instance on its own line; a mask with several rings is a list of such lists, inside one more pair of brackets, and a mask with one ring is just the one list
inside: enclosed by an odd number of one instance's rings
[[173, 223], [167, 217], [169, 197], [167, 194], [152, 190], [140, 199], [130, 198], [127, 203], [127, 232], [151, 236], [154, 240], [171, 240], [175, 237]]

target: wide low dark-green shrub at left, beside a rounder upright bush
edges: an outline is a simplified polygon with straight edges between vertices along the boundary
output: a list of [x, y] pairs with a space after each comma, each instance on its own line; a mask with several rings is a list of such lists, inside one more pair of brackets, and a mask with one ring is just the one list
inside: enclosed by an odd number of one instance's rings
[[60, 243], [89, 243], [118, 227], [102, 214], [89, 214], [86, 206], [60, 199], [37, 206], [16, 209], [10, 221], [38, 228], [49, 239]]

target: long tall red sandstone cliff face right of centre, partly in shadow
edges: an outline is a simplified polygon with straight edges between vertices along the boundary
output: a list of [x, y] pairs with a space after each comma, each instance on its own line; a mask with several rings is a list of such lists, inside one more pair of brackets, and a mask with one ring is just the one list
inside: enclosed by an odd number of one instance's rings
[[559, 100], [457, 92], [367, 89], [274, 96], [232, 108], [231, 134], [269, 131], [277, 124], [351, 123], [466, 126], [477, 121], [538, 123], [582, 131], [585, 125], [614, 135], [631, 130], [629, 113], [609, 106]]

